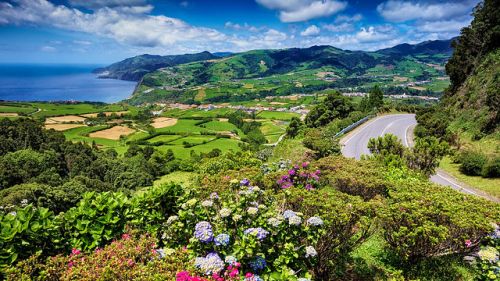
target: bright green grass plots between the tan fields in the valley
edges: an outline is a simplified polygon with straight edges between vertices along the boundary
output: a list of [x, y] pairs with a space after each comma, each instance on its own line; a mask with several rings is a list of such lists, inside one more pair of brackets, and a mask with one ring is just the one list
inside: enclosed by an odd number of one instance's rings
[[[209, 94], [209, 93], [207, 93]], [[308, 97], [309, 98], [309, 97]], [[277, 101], [279, 100], [279, 101]], [[309, 102], [313, 99], [309, 99]], [[273, 101], [265, 101], [267, 105], [274, 103], [275, 106], [285, 106], [286, 99], [276, 99]], [[290, 101], [290, 100], [289, 100]], [[255, 101], [257, 102], [257, 101]], [[290, 101], [295, 103], [297, 101]], [[256, 104], [249, 103], [247, 106]], [[200, 109], [173, 109], [164, 112], [165, 117], [177, 118], [177, 123], [172, 126], [157, 128], [155, 132], [159, 135], [151, 137], [147, 131], [151, 130], [147, 124], [127, 119], [126, 126], [136, 130], [126, 137], [119, 140], [105, 139], [97, 136], [91, 137], [92, 133], [111, 128], [112, 125], [106, 124], [107, 120], [100, 121], [94, 126], [87, 126], [83, 123], [85, 120], [81, 118], [83, 114], [97, 112], [116, 112], [129, 111], [135, 114], [140, 109], [137, 107], [129, 107], [120, 104], [65, 104], [65, 103], [0, 103], [0, 112], [5, 114], [21, 113], [32, 114], [34, 118], [51, 118], [49, 121], [53, 125], [65, 125], [70, 118], [68, 115], [74, 115], [73, 119], [79, 118], [78, 125], [81, 127], [70, 128], [63, 131], [63, 134], [70, 141], [95, 143], [103, 149], [115, 149], [119, 154], [124, 154], [130, 143], [137, 142], [140, 145], [150, 144], [156, 149], [167, 151], [171, 149], [177, 158], [190, 157], [191, 151], [196, 153], [208, 153], [213, 149], [220, 149], [222, 152], [239, 151], [240, 139], [245, 137], [245, 134], [235, 125], [227, 122], [225, 117], [234, 112], [234, 109], [219, 108], [213, 110]], [[261, 122], [261, 131], [269, 143], [274, 143], [284, 133], [287, 126], [287, 120], [294, 116], [299, 116], [295, 113], [264, 111], [258, 114], [257, 119]], [[56, 118], [57, 117], [57, 118]], [[17, 118], [17, 117], [12, 117]], [[120, 119], [120, 118], [118, 118]], [[123, 120], [123, 118], [122, 118]], [[217, 138], [217, 134], [230, 136], [230, 138]]]

